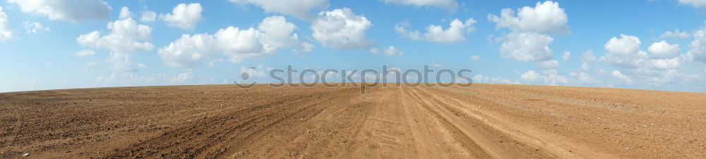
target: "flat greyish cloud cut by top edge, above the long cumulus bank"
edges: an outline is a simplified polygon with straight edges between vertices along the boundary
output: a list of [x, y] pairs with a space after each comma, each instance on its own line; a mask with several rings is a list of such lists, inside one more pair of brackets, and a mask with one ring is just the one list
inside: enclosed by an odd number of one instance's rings
[[236, 4], [253, 4], [265, 12], [293, 15], [303, 20], [316, 18], [312, 10], [321, 11], [328, 8], [328, 0], [230, 0]]

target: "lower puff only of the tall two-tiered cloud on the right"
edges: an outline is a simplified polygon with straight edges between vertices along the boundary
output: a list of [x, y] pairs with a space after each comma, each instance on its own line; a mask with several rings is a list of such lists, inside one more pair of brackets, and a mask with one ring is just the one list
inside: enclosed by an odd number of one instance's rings
[[498, 37], [503, 41], [500, 53], [503, 58], [513, 58], [517, 61], [547, 61], [552, 53], [549, 44], [554, 41], [545, 34], [532, 32], [510, 32]]

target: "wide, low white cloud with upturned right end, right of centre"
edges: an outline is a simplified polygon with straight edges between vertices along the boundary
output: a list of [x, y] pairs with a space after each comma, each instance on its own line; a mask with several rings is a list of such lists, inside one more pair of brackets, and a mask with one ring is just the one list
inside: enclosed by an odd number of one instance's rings
[[477, 23], [477, 21], [473, 18], [468, 18], [465, 23], [461, 20], [454, 19], [451, 21], [446, 30], [444, 30], [441, 25], [429, 25], [429, 27], [426, 27], [426, 33], [422, 35], [419, 31], [407, 30], [405, 27], [409, 26], [409, 23], [403, 22], [395, 25], [395, 31], [401, 34], [402, 37], [412, 40], [426, 40], [450, 44], [455, 42], [465, 42], [466, 34], [470, 34], [475, 30], [473, 23]]

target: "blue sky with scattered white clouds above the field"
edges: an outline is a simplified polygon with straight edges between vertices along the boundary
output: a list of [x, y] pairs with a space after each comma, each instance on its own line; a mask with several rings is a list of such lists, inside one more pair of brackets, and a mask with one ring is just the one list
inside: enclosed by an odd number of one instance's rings
[[1, 0], [0, 92], [429, 65], [476, 83], [704, 93], [705, 20], [706, 0]]

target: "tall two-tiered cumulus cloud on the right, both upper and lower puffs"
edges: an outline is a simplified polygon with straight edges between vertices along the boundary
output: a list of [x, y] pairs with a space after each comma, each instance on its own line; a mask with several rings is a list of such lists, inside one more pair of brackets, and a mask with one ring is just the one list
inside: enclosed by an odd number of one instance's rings
[[[490, 14], [488, 19], [496, 23], [496, 28], [512, 30], [496, 38], [496, 41], [503, 42], [499, 49], [503, 58], [537, 62], [540, 68], [558, 68], [558, 61], [551, 60], [554, 53], [549, 44], [554, 38], [549, 34], [569, 33], [568, 16], [558, 2], [537, 2], [534, 8], [517, 8], [517, 13], [504, 8], [500, 16]], [[570, 53], [566, 52], [562, 58], [568, 61], [569, 56]]]

